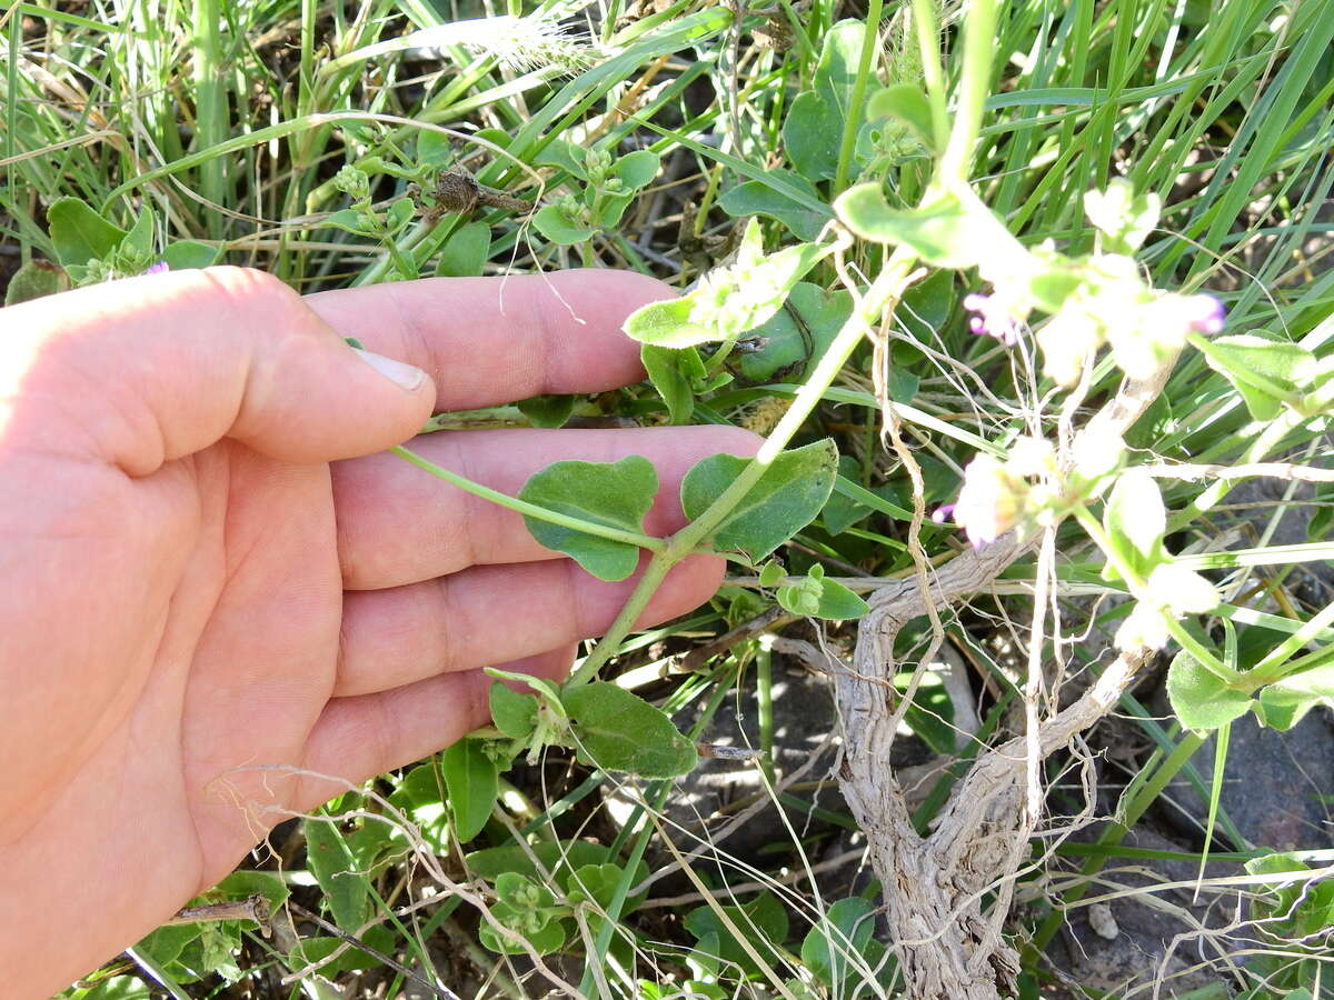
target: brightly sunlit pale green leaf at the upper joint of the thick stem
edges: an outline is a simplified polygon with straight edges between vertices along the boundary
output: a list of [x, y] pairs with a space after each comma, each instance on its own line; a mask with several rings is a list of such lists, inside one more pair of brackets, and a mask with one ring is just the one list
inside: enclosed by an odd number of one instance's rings
[[964, 205], [952, 193], [920, 208], [890, 208], [879, 181], [870, 181], [839, 195], [834, 211], [862, 239], [902, 244], [939, 268], [975, 267], [988, 252], [1007, 248], [991, 245], [998, 243], [996, 229], [1005, 232], [1005, 227], [990, 209], [971, 201]]

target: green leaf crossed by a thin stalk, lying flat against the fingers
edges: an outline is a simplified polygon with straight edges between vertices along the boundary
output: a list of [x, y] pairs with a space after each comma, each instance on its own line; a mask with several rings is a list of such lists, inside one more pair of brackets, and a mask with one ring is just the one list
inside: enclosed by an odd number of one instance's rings
[[[558, 461], [535, 473], [519, 499], [608, 528], [643, 533], [644, 515], [658, 492], [658, 473], [648, 459]], [[551, 521], [524, 517], [532, 537], [564, 552], [599, 580], [624, 580], [639, 565], [639, 547], [587, 535]]]

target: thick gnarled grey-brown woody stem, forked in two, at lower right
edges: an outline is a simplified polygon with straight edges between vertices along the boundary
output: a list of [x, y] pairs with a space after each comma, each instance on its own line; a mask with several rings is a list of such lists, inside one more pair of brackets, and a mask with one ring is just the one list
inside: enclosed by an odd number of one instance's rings
[[[1083, 433], [1125, 433], [1161, 392], [1175, 357], [1150, 380], [1127, 381]], [[1123, 653], [1069, 708], [979, 755], [923, 837], [888, 765], [898, 728], [894, 640], [912, 619], [992, 580], [1037, 544], [1006, 535], [963, 552], [923, 580], [919, 573], [875, 591], [862, 620], [851, 668], [835, 672], [835, 699], [846, 731], [839, 785], [867, 837], [908, 995], [923, 1000], [998, 1000], [1019, 972], [1019, 956], [1002, 937], [1010, 889], [1041, 816], [1026, 793], [1033, 769], [1070, 744], [1117, 705], [1153, 651]], [[1041, 619], [1039, 619], [1041, 620]], [[1026, 697], [1035, 697], [1027, 692]], [[1038, 720], [1037, 705], [1029, 712]], [[1038, 760], [1034, 760], [1037, 755]], [[987, 915], [982, 897], [999, 888]]]

